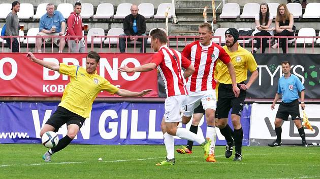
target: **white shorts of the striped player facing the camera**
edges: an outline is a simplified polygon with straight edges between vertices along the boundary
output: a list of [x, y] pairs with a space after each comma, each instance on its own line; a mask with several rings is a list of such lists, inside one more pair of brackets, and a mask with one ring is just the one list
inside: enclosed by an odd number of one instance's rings
[[190, 117], [202, 102], [203, 109], [213, 109], [217, 107], [217, 99], [215, 97], [215, 90], [207, 90], [202, 92], [189, 92], [186, 106], [183, 108], [183, 116]]

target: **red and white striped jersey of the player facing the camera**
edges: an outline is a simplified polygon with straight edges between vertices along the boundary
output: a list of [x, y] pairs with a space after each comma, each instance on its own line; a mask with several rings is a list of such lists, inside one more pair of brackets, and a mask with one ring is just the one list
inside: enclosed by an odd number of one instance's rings
[[187, 44], [182, 55], [191, 60], [196, 71], [188, 78], [186, 87], [189, 92], [201, 92], [215, 89], [214, 70], [217, 59], [223, 63], [230, 62], [230, 56], [216, 43], [203, 46], [200, 40]]

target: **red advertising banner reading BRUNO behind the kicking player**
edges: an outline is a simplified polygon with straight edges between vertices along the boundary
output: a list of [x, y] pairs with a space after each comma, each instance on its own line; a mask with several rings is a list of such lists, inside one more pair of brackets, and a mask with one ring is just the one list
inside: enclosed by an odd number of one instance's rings
[[[158, 97], [156, 70], [130, 74], [117, 71], [120, 66], [134, 67], [148, 63], [152, 55], [100, 53], [98, 74], [117, 87], [135, 92], [152, 89], [147, 97]], [[85, 68], [86, 54], [83, 53], [35, 53], [35, 56], [44, 61], [80, 65]], [[0, 96], [61, 97], [69, 81], [67, 75], [31, 62], [25, 53], [0, 53]], [[117, 95], [102, 92], [99, 97], [117, 97]]]

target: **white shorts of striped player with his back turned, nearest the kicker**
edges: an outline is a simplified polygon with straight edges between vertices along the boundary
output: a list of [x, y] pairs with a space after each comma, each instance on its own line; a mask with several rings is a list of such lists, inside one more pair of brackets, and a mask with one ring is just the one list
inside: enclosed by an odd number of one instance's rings
[[171, 96], [165, 100], [165, 122], [180, 122], [180, 111], [185, 106], [187, 97], [185, 95]]

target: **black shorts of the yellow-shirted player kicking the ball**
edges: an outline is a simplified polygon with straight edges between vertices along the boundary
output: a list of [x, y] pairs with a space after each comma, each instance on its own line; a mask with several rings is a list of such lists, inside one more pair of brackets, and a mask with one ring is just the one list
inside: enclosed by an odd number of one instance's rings
[[55, 128], [54, 132], [57, 132], [65, 123], [67, 123], [67, 126], [70, 124], [77, 124], [79, 128], [81, 128], [84, 120], [84, 117], [79, 116], [78, 114], [73, 113], [66, 108], [58, 106], [57, 110], [48, 119], [46, 124], [52, 125]]

